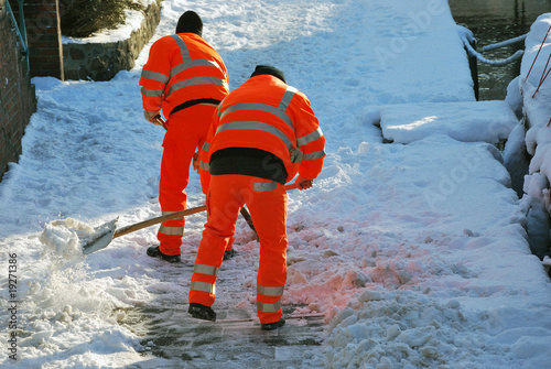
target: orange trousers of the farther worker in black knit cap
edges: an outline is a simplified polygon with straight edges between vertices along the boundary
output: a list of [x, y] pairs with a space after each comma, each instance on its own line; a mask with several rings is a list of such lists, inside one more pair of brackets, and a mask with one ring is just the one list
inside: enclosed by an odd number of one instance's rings
[[[190, 164], [197, 148], [205, 143], [216, 107], [195, 105], [183, 109], [166, 120], [168, 131], [163, 140], [159, 204], [163, 215], [185, 209], [185, 187], [190, 180]], [[161, 252], [180, 254], [184, 218], [163, 221], [156, 238]]]

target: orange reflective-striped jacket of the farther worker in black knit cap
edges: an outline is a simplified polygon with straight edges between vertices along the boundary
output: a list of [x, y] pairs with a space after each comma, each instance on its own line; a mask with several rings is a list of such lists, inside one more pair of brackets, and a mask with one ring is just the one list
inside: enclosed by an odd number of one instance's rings
[[222, 100], [229, 91], [220, 55], [195, 33], [172, 34], [155, 41], [143, 66], [140, 86], [143, 109], [162, 108], [165, 117], [186, 101]]

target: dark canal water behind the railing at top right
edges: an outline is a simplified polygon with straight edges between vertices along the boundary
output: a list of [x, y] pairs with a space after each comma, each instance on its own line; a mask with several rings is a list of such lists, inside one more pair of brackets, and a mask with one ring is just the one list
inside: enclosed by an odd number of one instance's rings
[[[551, 0], [450, 0], [449, 3], [455, 22], [473, 32], [477, 51], [528, 33], [539, 15], [551, 12]], [[503, 59], [523, 48], [521, 41], [482, 54], [490, 61]], [[477, 68], [478, 99], [503, 100], [507, 86], [520, 74], [520, 59], [504, 66], [478, 62]]]

